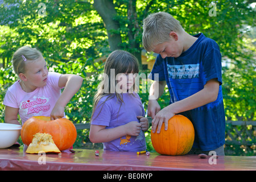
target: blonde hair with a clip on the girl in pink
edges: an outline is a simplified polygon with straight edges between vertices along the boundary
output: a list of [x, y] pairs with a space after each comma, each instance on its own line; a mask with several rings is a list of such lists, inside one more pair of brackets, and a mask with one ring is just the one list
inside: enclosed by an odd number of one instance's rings
[[[36, 48], [28, 46], [20, 47], [13, 55], [13, 69], [19, 76], [19, 73], [25, 73], [27, 61], [34, 61], [42, 56], [42, 53]], [[43, 57], [43, 56], [42, 56]]]

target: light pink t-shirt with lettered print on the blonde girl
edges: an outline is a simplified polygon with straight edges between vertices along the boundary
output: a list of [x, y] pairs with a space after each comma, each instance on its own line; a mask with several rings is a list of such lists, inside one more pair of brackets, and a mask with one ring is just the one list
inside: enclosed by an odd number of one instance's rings
[[59, 88], [58, 84], [60, 76], [60, 73], [49, 72], [46, 86], [38, 87], [30, 93], [22, 90], [19, 84], [20, 80], [16, 81], [7, 90], [3, 104], [19, 108], [22, 125], [33, 116], [50, 116], [53, 107], [61, 95], [61, 88]]

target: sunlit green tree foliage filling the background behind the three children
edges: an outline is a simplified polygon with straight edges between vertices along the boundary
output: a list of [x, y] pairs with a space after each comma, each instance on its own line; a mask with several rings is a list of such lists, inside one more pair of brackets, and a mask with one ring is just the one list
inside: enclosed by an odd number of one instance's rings
[[[4, 120], [2, 105], [7, 88], [18, 78], [11, 68], [11, 56], [21, 46], [38, 47], [49, 69], [59, 73], [75, 73], [84, 78], [83, 85], [66, 107], [67, 117], [75, 123], [89, 122], [97, 77], [103, 72], [102, 60], [110, 52], [108, 35], [101, 16], [93, 7], [93, 1], [46, 1], [46, 16], [41, 16], [41, 1], [27, 0], [17, 3], [4, 1], [0, 5], [0, 119]], [[203, 0], [151, 0], [136, 1], [134, 19], [128, 15], [129, 1], [114, 3], [119, 29], [113, 30], [122, 37], [121, 47], [130, 52], [139, 52], [142, 47], [142, 24], [148, 14], [166, 11], [177, 18], [189, 34], [203, 32], [216, 40], [223, 59], [222, 89], [226, 119], [256, 121], [255, 108], [255, 9], [247, 1]], [[210, 16], [216, 10], [216, 16]], [[137, 23], [138, 28], [129, 23]], [[133, 38], [129, 37], [133, 33]], [[137, 47], [130, 45], [135, 43]], [[149, 56], [150, 57], [150, 56]], [[149, 71], [141, 71], [148, 73]], [[147, 88], [148, 89], [148, 88]], [[148, 92], [140, 93], [147, 106]], [[163, 108], [168, 105], [168, 89], [159, 99]], [[227, 126], [226, 130], [230, 130]], [[238, 131], [243, 131], [238, 128]], [[244, 132], [247, 132], [246, 130]], [[78, 131], [75, 147], [89, 145], [89, 131]], [[147, 146], [152, 149], [150, 131], [146, 133]], [[240, 146], [241, 147], [241, 146]], [[240, 147], [231, 148], [234, 155], [242, 155]]]

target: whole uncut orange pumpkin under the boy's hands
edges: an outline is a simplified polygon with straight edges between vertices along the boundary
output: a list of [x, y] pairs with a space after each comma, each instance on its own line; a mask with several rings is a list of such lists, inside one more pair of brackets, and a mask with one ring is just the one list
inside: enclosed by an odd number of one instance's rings
[[168, 121], [168, 129], [164, 130], [164, 123], [160, 133], [152, 133], [151, 142], [155, 151], [163, 155], [185, 155], [195, 139], [192, 122], [183, 115], [174, 115]]

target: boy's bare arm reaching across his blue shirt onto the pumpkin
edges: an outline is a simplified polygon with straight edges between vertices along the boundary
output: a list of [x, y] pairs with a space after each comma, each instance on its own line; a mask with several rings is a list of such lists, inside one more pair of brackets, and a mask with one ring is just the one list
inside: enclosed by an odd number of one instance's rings
[[209, 80], [204, 85], [204, 88], [199, 92], [185, 98], [184, 100], [164, 107], [158, 112], [158, 114], [156, 114], [155, 118], [152, 120], [152, 132], [155, 133], [156, 127], [158, 127], [157, 133], [160, 133], [160, 129], [163, 123], [164, 129], [167, 130], [168, 120], [177, 113], [195, 109], [196, 107], [200, 107], [215, 101], [218, 97], [219, 86], [220, 83], [216, 79]]

